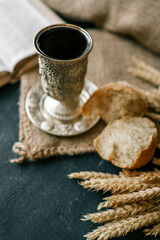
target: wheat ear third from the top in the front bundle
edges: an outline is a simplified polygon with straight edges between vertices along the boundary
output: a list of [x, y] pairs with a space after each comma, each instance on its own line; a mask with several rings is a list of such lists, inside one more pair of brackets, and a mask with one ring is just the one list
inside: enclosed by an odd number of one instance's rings
[[117, 194], [115, 196], [104, 198], [104, 200], [106, 201], [101, 202], [98, 205], [97, 209], [100, 210], [103, 207], [105, 208], [117, 207], [125, 203], [151, 200], [159, 196], [160, 196], [160, 187], [153, 187], [153, 188], [145, 189], [143, 191], [132, 192], [127, 194]]

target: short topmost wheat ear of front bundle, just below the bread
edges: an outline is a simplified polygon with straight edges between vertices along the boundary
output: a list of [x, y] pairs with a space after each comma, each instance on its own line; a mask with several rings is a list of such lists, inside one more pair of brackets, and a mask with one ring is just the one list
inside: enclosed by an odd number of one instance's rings
[[110, 173], [102, 173], [102, 172], [75, 172], [68, 175], [69, 178], [77, 178], [77, 179], [89, 179], [89, 178], [118, 178], [116, 174]]

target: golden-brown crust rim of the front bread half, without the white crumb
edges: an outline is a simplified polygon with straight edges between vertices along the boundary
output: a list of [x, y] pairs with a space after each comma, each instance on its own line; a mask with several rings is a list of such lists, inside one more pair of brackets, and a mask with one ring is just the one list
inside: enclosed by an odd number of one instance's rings
[[[124, 119], [127, 119], [127, 118], [128, 117], [125, 117]], [[155, 127], [155, 124], [147, 118], [145, 118], [145, 120], [150, 121], [150, 123], [152, 123], [152, 126], [155, 128], [155, 133], [153, 134], [149, 145], [145, 149], [142, 149], [142, 151], [139, 153], [139, 155], [134, 160], [132, 165], [130, 165], [130, 166], [123, 165], [122, 166], [121, 164], [118, 164], [118, 162], [115, 159], [112, 159], [112, 158], [105, 159], [104, 158], [103, 154], [101, 153], [101, 149], [99, 147], [99, 141], [101, 139], [102, 133], [93, 141], [94, 147], [95, 147], [96, 151], [98, 152], [98, 154], [101, 156], [101, 158], [104, 160], [108, 160], [108, 161], [112, 162], [115, 166], [124, 168], [124, 169], [137, 169], [142, 166], [145, 166], [152, 159], [154, 152], [155, 152], [156, 143], [157, 143], [157, 129]], [[109, 123], [108, 125], [112, 125], [112, 123]]]

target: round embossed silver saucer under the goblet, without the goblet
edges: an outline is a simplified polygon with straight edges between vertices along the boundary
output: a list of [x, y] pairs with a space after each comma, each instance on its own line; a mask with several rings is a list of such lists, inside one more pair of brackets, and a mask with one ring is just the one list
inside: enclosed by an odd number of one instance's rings
[[[87, 99], [95, 92], [97, 86], [86, 80], [84, 88], [79, 96], [80, 105], [87, 101]], [[99, 117], [91, 114], [90, 117], [85, 118], [82, 114], [74, 120], [60, 121], [41, 110], [41, 103], [45, 97], [42, 90], [41, 82], [35, 83], [29, 90], [26, 97], [26, 113], [30, 121], [42, 131], [56, 136], [75, 136], [84, 133], [91, 129], [99, 120]]]

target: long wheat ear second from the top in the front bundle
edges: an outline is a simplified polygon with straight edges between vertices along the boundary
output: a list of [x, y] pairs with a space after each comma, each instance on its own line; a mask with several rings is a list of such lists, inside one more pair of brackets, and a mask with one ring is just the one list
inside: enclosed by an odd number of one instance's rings
[[139, 190], [144, 190], [152, 186], [160, 187], [160, 183], [143, 183], [133, 179], [101, 179], [101, 178], [91, 178], [90, 180], [85, 180], [80, 183], [84, 188], [95, 189], [97, 191], [103, 190], [104, 192], [111, 191], [112, 193], [117, 192], [134, 192]]

